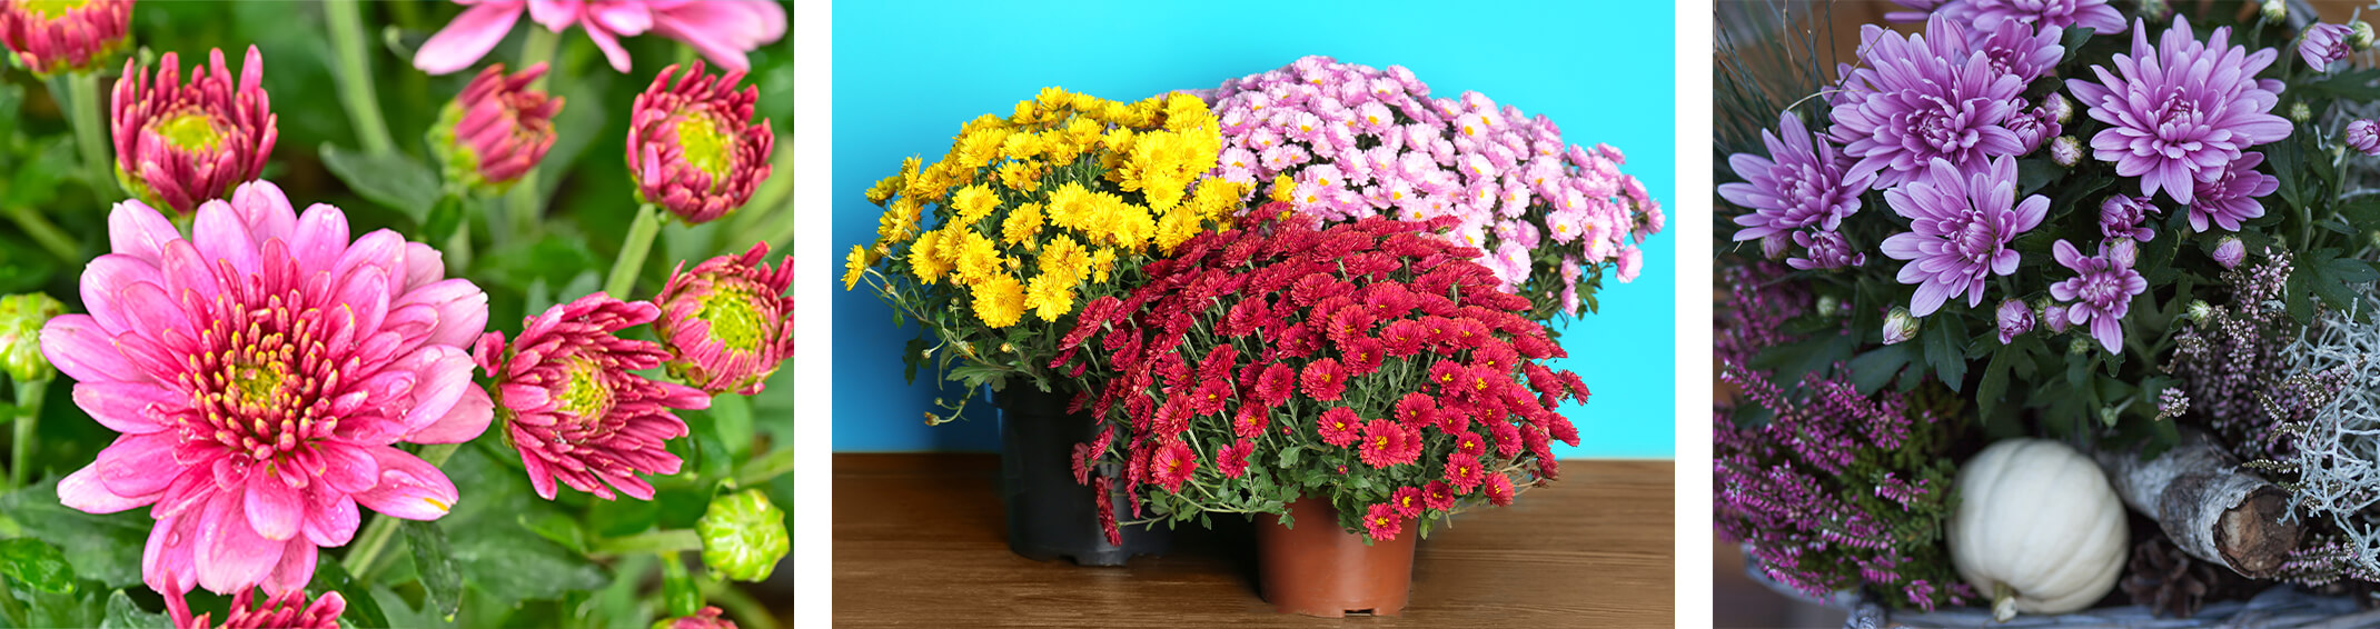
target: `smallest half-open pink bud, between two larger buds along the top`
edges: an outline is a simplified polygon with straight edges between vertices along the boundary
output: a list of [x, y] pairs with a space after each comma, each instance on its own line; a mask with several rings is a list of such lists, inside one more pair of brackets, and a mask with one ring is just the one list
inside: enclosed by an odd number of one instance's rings
[[445, 164], [447, 181], [502, 193], [555, 148], [555, 114], [562, 98], [528, 88], [545, 76], [545, 64], [505, 74], [490, 64], [438, 114], [431, 150]]

